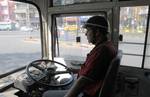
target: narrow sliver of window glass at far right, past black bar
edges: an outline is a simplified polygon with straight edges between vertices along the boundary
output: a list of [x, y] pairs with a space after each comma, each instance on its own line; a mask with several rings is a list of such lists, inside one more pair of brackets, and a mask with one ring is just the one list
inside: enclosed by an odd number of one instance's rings
[[146, 57], [145, 57], [144, 68], [150, 68], [150, 21], [149, 21], [149, 29], [148, 29], [148, 38], [147, 38]]

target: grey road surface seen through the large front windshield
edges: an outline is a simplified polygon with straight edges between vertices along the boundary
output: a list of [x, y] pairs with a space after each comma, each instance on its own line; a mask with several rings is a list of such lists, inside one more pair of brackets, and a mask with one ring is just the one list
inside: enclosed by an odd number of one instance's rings
[[0, 74], [41, 58], [39, 32], [0, 32]]

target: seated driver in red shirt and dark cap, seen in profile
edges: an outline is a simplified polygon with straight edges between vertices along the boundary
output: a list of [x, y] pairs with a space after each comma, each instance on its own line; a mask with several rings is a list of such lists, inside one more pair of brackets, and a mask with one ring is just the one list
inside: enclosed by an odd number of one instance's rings
[[52, 90], [44, 93], [43, 97], [98, 97], [99, 89], [106, 71], [117, 52], [108, 39], [108, 22], [102, 16], [93, 16], [83, 26], [89, 43], [95, 47], [87, 55], [86, 61], [78, 72], [77, 80], [66, 92]]

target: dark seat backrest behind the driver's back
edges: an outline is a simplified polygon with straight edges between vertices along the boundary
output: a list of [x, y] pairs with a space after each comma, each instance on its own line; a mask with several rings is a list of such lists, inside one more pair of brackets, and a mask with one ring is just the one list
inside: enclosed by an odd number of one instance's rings
[[117, 56], [112, 60], [111, 64], [109, 65], [108, 71], [106, 72], [106, 76], [99, 92], [99, 97], [113, 97], [115, 81], [121, 58], [122, 51], [119, 50]]

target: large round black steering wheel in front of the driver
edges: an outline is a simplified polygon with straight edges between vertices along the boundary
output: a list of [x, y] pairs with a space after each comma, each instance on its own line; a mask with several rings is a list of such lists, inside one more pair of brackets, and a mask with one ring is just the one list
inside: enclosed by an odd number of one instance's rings
[[[57, 66], [60, 65], [61, 68], [63, 67], [64, 70], [63, 71], [57, 71], [56, 65]], [[34, 68], [34, 70], [33, 70], [33, 68]], [[30, 71], [30, 69], [32, 71]], [[37, 71], [38, 71], [38, 73], [37, 73]], [[35, 83], [40, 84], [42, 86], [47, 86], [47, 87], [63, 87], [63, 86], [67, 86], [70, 83], [72, 83], [73, 80], [74, 80], [74, 75], [73, 75], [73, 72], [71, 71], [70, 68], [68, 68], [67, 66], [65, 66], [64, 64], [62, 64], [60, 62], [53, 61], [53, 60], [46, 60], [46, 59], [35, 60], [35, 61], [31, 62], [26, 67], [26, 74]], [[54, 76], [59, 75], [59, 74], [70, 74], [71, 78], [69, 78], [64, 83], [57, 83], [57, 84], [54, 83], [54, 82], [51, 83], [51, 80], [54, 78]], [[45, 81], [41, 81], [39, 76], [42, 79], [44, 78]], [[57, 79], [58, 79], [58, 77], [55, 78], [55, 80], [57, 80]]]

